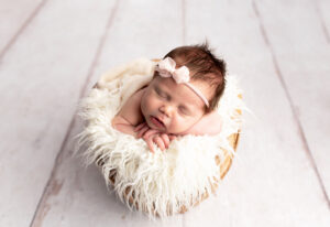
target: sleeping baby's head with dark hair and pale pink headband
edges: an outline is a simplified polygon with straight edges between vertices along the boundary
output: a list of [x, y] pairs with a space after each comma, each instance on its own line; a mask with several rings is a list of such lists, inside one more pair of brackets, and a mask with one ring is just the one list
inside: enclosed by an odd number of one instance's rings
[[156, 66], [142, 97], [147, 125], [167, 133], [187, 131], [216, 109], [224, 90], [224, 75], [226, 63], [207, 44], [174, 48]]

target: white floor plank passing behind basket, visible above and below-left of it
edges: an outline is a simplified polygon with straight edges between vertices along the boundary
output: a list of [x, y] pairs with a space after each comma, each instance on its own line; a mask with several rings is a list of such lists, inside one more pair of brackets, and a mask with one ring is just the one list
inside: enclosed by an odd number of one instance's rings
[[[180, 45], [180, 2], [175, 0], [157, 3], [120, 1], [88, 87], [110, 67], [141, 56], [163, 57], [172, 47]], [[96, 166], [84, 170], [76, 159], [68, 159], [74, 149], [72, 139], [81, 130], [81, 122], [75, 125], [33, 226], [183, 225], [180, 215], [154, 223], [138, 212], [131, 213], [114, 194], [107, 192], [101, 173]], [[57, 192], [58, 184], [62, 186]]]

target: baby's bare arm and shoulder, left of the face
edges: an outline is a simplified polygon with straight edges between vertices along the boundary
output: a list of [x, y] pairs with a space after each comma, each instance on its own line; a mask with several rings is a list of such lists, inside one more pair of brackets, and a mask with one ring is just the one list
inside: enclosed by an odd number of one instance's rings
[[136, 137], [135, 127], [143, 121], [141, 98], [144, 89], [133, 94], [112, 119], [112, 127], [118, 131]]

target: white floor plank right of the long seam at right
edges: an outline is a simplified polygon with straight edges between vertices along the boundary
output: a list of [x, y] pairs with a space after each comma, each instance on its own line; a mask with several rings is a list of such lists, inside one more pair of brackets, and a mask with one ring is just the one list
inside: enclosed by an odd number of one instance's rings
[[[270, 43], [329, 198], [330, 43], [319, 12], [314, 7], [315, 2], [308, 0], [293, 0], [289, 4], [287, 1], [276, 4], [257, 2]], [[330, 3], [323, 4], [323, 8], [326, 11], [328, 8], [329, 12]], [[280, 17], [283, 13], [289, 18]]]

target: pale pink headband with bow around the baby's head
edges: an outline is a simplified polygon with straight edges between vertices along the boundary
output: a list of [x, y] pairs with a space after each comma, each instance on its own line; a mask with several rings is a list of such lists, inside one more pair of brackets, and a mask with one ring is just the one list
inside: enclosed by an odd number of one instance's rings
[[160, 73], [160, 76], [162, 77], [172, 77], [176, 84], [184, 84], [187, 87], [189, 87], [196, 95], [198, 95], [201, 98], [205, 105], [209, 107], [208, 99], [206, 99], [201, 91], [199, 91], [189, 83], [190, 77], [188, 67], [182, 66], [179, 68], [175, 68], [175, 61], [170, 57], [166, 57], [158, 62], [158, 64], [155, 67], [155, 71], [157, 71]]

